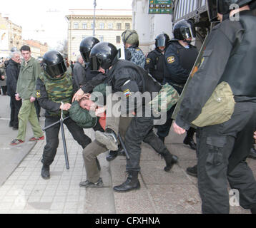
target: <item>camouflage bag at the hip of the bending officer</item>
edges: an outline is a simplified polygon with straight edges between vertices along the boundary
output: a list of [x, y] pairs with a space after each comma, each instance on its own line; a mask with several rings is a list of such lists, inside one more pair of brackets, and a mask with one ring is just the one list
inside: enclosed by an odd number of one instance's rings
[[156, 112], [166, 112], [179, 100], [179, 93], [168, 83], [162, 86], [158, 95], [149, 102], [152, 109]]

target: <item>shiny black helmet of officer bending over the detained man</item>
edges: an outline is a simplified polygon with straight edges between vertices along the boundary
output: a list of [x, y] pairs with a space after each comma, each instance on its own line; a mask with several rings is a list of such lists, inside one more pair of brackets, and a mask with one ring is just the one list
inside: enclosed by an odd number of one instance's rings
[[120, 50], [117, 50], [112, 43], [100, 42], [92, 48], [89, 66], [92, 71], [98, 71], [99, 67], [107, 70], [117, 62], [119, 57]]

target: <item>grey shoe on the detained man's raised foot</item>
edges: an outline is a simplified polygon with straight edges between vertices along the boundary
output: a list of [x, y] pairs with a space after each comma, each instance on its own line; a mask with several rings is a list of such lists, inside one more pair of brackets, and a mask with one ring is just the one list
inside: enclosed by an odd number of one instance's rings
[[98, 142], [106, 145], [109, 150], [118, 150], [117, 135], [114, 133], [114, 130], [109, 128], [107, 128], [105, 132], [97, 130], [95, 132], [95, 138]]

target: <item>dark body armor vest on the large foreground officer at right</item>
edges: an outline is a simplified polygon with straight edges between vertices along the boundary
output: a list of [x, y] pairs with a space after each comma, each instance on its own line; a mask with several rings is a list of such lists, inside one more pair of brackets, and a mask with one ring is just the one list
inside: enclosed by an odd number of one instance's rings
[[245, 29], [242, 41], [233, 48], [225, 72], [220, 80], [230, 84], [234, 95], [256, 97], [256, 17], [241, 15], [240, 22]]

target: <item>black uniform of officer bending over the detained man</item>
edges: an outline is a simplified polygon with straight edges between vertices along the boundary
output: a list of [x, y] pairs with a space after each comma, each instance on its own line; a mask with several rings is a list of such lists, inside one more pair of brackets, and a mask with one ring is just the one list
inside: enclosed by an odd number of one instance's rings
[[[161, 89], [159, 83], [154, 81], [153, 78], [150, 78], [144, 69], [139, 66], [131, 63], [129, 61], [117, 61], [117, 63], [112, 66], [109, 73], [109, 84], [112, 86], [113, 92], [122, 92], [124, 93], [124, 98], [129, 100], [132, 98], [132, 92], [158, 92]], [[127, 113], [132, 112], [132, 108], [126, 106], [126, 100], [123, 100], [122, 105], [127, 107]], [[136, 106], [137, 105], [137, 106]], [[151, 116], [145, 117], [144, 115], [144, 106], [143, 102], [137, 100], [136, 112], [138, 108], [142, 106], [142, 116], [137, 115], [132, 118], [132, 121], [127, 129], [125, 134], [125, 146], [127, 152], [129, 153], [130, 160], [127, 160], [127, 171], [139, 171], [139, 158], [141, 153], [141, 144], [142, 141], [149, 143], [154, 150], [159, 154], [163, 154], [169, 151], [164, 146], [162, 140], [160, 140], [157, 135], [154, 134], [152, 128], [154, 126], [154, 119]], [[123, 110], [121, 108], [121, 110]], [[133, 109], [134, 110], [134, 109]]]

